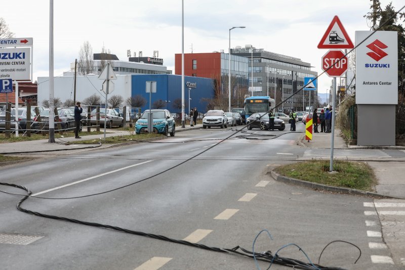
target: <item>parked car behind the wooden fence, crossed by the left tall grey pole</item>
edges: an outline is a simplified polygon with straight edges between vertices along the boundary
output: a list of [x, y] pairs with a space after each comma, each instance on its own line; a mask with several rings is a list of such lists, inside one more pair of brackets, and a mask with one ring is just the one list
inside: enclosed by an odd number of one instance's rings
[[[44, 130], [49, 130], [49, 109], [43, 110], [41, 113], [39, 113], [39, 116], [41, 117], [41, 123], [43, 124], [43, 129]], [[74, 129], [74, 113], [68, 108], [62, 108], [58, 109], [58, 116], [59, 116], [59, 123], [61, 124], [61, 129], [62, 130], [73, 130]], [[54, 119], [54, 125], [55, 129], [58, 128], [58, 122], [56, 120], [56, 117]], [[35, 127], [40, 127], [41, 125], [39, 124], [38, 121], [38, 116], [34, 117], [34, 125]], [[81, 128], [80, 128], [81, 129]]]

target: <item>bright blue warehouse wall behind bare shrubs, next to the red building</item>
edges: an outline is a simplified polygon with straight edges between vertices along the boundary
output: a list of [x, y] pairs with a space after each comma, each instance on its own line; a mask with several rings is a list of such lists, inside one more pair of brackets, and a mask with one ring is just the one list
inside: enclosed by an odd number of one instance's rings
[[[153, 102], [156, 100], [166, 101], [166, 109], [171, 112], [180, 112], [181, 109], [173, 107], [173, 101], [181, 99], [181, 75], [173, 74], [145, 74], [145, 75], [132, 75], [131, 78], [131, 96], [143, 96], [147, 100], [147, 104], [143, 106], [142, 111], [149, 109], [149, 93], [146, 93], [146, 82], [156, 82], [156, 93], [152, 93], [151, 102], [153, 109]], [[191, 90], [189, 90], [191, 89]], [[190, 96], [188, 93], [190, 92]], [[197, 107], [199, 112], [206, 112], [208, 101], [214, 96], [212, 79], [199, 78], [193, 76], [184, 76], [184, 106], [185, 112], [188, 113], [188, 98], [190, 100], [190, 107]]]

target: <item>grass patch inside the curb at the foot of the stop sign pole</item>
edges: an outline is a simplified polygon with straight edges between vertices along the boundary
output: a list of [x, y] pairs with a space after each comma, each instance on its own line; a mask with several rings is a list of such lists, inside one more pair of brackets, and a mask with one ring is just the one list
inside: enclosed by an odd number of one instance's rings
[[348, 187], [365, 191], [374, 191], [377, 182], [373, 169], [363, 162], [335, 160], [333, 170], [329, 172], [330, 161], [312, 160], [280, 166], [275, 172], [308, 182], [329, 186]]

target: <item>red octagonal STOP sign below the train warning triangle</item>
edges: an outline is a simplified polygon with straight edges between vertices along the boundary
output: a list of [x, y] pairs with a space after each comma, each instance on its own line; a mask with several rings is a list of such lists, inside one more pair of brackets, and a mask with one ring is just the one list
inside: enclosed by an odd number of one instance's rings
[[330, 77], [340, 77], [347, 70], [347, 62], [341, 50], [329, 50], [322, 56], [322, 70]]

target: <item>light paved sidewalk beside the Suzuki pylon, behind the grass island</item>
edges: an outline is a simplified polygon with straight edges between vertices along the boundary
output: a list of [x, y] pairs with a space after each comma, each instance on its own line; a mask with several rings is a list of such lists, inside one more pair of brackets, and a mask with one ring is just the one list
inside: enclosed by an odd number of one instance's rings
[[[332, 133], [313, 133], [312, 140], [309, 142], [305, 140], [305, 135], [300, 139], [299, 144], [308, 148], [327, 148], [331, 149]], [[348, 146], [340, 135], [340, 130], [335, 129], [334, 134], [334, 149], [384, 149], [388, 147], [383, 146]], [[389, 149], [397, 149], [398, 151], [405, 149], [404, 147], [390, 146]], [[378, 179], [376, 185], [376, 192], [381, 195], [405, 198], [405, 159], [395, 158], [390, 159], [372, 159], [367, 163], [373, 168], [374, 173]]]

